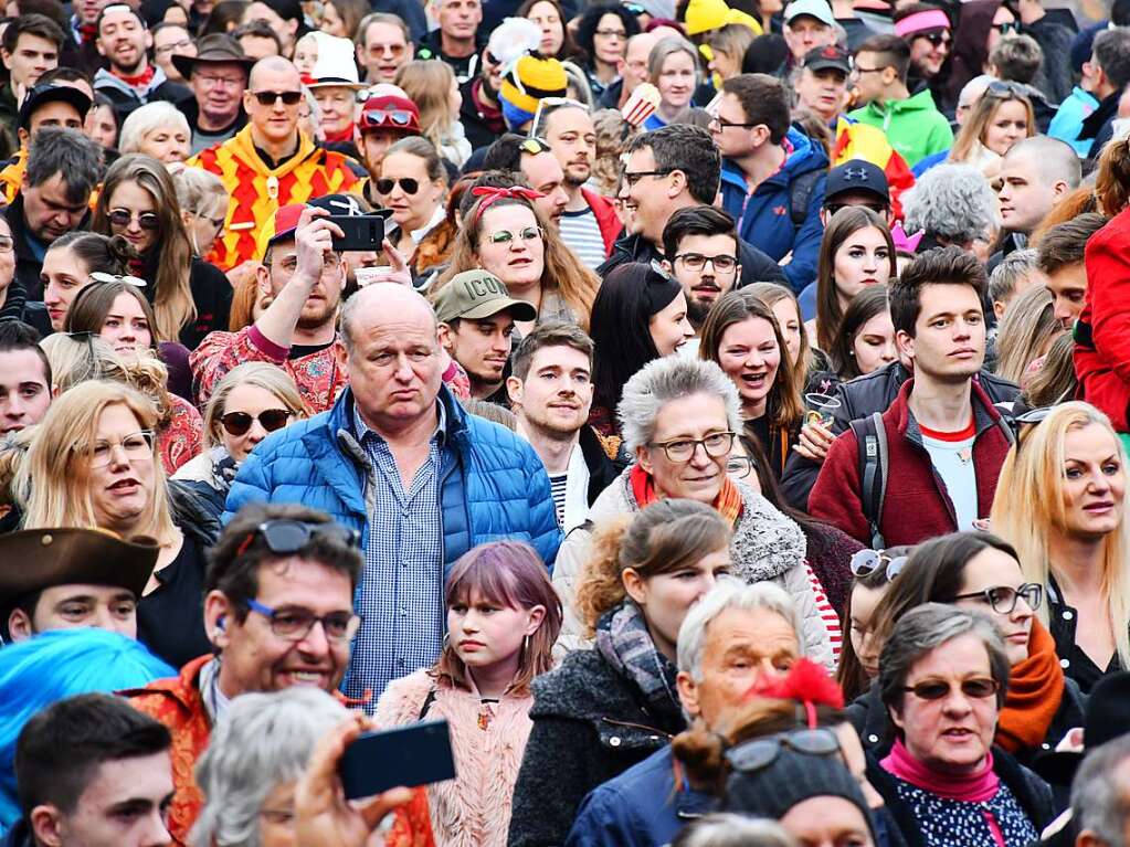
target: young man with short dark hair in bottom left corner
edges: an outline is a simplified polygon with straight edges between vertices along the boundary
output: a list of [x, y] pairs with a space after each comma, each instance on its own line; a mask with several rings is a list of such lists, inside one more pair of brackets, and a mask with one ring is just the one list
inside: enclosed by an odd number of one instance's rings
[[18, 847], [159, 847], [172, 842], [172, 739], [110, 695], [60, 700], [16, 743]]

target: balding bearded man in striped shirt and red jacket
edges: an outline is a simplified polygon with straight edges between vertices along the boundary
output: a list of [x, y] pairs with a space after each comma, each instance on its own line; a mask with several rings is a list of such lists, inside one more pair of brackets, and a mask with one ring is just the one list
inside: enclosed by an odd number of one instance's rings
[[562, 186], [568, 200], [558, 220], [562, 241], [589, 268], [599, 268], [612, 252], [621, 226], [612, 201], [584, 187], [597, 158], [592, 115], [584, 104], [565, 101], [546, 106], [534, 130], [549, 142], [565, 174]]

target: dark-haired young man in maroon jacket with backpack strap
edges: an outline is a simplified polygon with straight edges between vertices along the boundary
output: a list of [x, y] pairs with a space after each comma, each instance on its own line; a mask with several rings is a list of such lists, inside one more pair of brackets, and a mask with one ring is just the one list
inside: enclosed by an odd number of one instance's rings
[[[973, 378], [984, 360], [984, 285], [976, 259], [939, 247], [918, 256], [890, 287], [896, 341], [914, 376], [881, 416], [889, 483], [871, 517], [887, 545], [972, 530], [992, 506], [1011, 438]], [[868, 544], [870, 496], [859, 439], [849, 429], [828, 451], [809, 510]]]

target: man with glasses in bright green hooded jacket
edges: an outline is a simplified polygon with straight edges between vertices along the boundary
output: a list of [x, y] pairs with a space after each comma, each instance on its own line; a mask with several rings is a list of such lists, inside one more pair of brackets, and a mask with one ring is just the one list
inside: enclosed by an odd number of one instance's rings
[[847, 116], [886, 132], [890, 146], [914, 167], [927, 156], [953, 147], [954, 131], [928, 88], [911, 95], [906, 87], [910, 63], [911, 49], [897, 35], [876, 35], [863, 42], [855, 52], [852, 81], [859, 102], [866, 105]]

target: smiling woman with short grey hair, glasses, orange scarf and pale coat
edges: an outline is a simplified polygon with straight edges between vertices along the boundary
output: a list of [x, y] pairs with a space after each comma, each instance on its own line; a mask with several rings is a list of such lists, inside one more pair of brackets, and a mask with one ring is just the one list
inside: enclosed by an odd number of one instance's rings
[[593, 527], [667, 498], [684, 498], [711, 506], [731, 530], [736, 576], [747, 583], [771, 580], [789, 592], [805, 623], [806, 654], [832, 666], [829, 634], [805, 560], [803, 532], [762, 497], [751, 477], [728, 472], [741, 408], [722, 368], [681, 356], [655, 359], [628, 379], [617, 417], [624, 445], [636, 461], [601, 492], [589, 519], [568, 534], [557, 553], [554, 587], [565, 608], [558, 646], [588, 646], [577, 587], [594, 556]]

